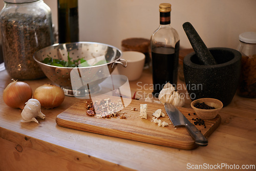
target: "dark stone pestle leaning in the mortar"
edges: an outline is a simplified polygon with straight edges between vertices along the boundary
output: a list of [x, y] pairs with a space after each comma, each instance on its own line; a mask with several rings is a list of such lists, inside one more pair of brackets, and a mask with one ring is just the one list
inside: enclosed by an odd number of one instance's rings
[[190, 41], [191, 46], [193, 47], [198, 61], [202, 65], [210, 66], [210, 65], [217, 65], [215, 58], [211, 55], [210, 51], [204, 44], [203, 40], [195, 30], [195, 28], [189, 23], [186, 22], [183, 25], [183, 29]]

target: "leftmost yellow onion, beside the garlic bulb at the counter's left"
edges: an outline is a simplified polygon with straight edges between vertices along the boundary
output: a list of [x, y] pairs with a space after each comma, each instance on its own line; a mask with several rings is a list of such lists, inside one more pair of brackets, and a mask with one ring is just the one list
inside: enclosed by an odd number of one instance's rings
[[4, 102], [11, 108], [24, 109], [25, 103], [32, 98], [32, 89], [26, 82], [13, 80], [3, 92]]

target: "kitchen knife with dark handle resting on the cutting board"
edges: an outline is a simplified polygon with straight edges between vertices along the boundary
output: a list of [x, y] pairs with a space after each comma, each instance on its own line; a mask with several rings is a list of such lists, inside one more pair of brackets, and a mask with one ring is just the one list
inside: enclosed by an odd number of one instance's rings
[[206, 146], [208, 144], [208, 140], [203, 136], [203, 134], [193, 123], [187, 120], [187, 118], [176, 108], [176, 106], [169, 103], [164, 103], [164, 108], [174, 126], [185, 126], [188, 133], [195, 140], [196, 144], [200, 146]]

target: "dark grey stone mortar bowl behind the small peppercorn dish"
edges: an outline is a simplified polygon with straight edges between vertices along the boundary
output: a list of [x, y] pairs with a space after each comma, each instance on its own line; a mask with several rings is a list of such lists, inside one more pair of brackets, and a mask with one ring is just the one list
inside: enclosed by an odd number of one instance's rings
[[184, 78], [191, 100], [216, 98], [228, 105], [236, 94], [241, 73], [241, 53], [230, 48], [209, 48], [218, 65], [204, 66], [197, 55], [184, 57]]

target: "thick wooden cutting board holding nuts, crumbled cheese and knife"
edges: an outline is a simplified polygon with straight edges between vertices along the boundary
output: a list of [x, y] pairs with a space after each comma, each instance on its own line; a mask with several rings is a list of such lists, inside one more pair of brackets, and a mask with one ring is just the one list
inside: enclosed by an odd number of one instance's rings
[[[127, 118], [120, 119], [120, 117], [96, 118], [96, 116], [88, 116], [86, 114], [87, 110], [84, 109], [84, 102], [77, 102], [66, 111], [57, 115], [56, 123], [59, 126], [75, 130], [168, 147], [180, 149], [194, 149], [197, 147], [195, 141], [191, 138], [184, 126], [174, 127], [166, 115], [164, 105], [162, 104], [132, 100], [126, 108], [121, 110], [121, 112], [126, 113]], [[147, 119], [142, 119], [139, 116], [140, 104], [145, 103], [147, 104]], [[136, 108], [137, 111], [132, 111], [132, 108]], [[165, 114], [165, 117], [160, 117], [159, 119], [169, 123], [168, 126], [159, 127], [156, 123], [151, 121], [153, 118], [152, 114], [157, 109], [161, 109]], [[193, 109], [178, 109], [191, 123], [194, 123], [192, 119], [196, 119], [197, 115], [194, 115]], [[190, 114], [190, 116], [188, 114]], [[207, 138], [217, 129], [220, 123], [221, 117], [218, 115], [215, 119], [205, 120], [206, 128], [204, 128], [203, 125], [196, 125], [196, 127]]]

